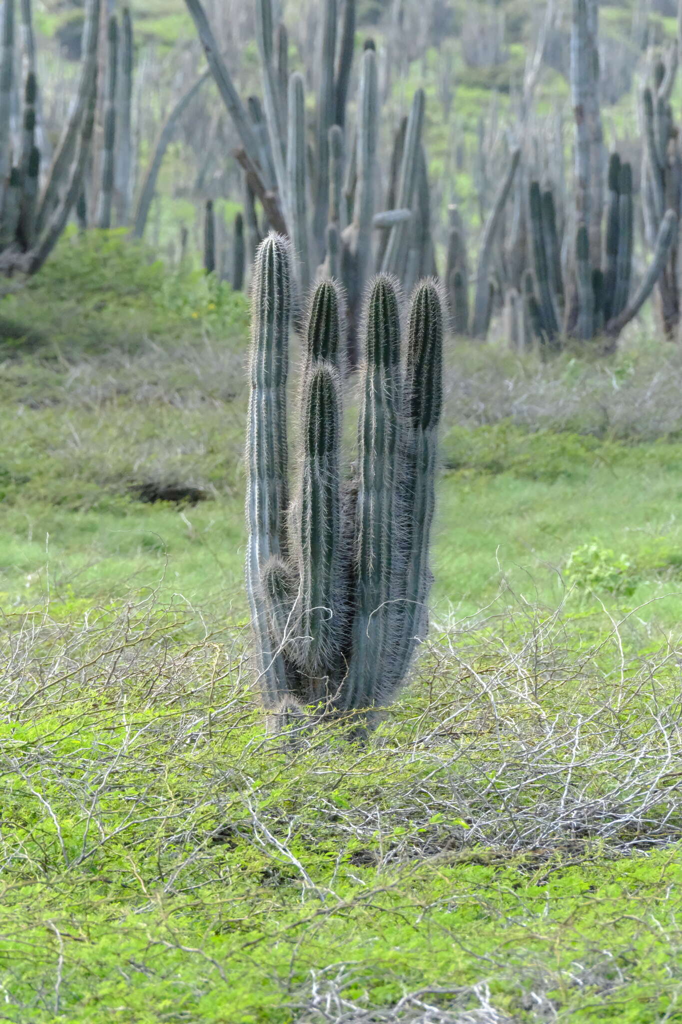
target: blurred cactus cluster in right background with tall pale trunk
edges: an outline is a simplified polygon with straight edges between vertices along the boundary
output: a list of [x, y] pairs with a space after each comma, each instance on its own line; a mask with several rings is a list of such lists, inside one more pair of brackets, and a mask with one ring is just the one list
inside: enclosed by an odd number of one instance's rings
[[[528, 199], [530, 267], [524, 276], [527, 321], [545, 350], [557, 349], [565, 337], [591, 341], [610, 339], [639, 311], [654, 285], [665, 276], [676, 253], [677, 210], [664, 198], [664, 172], [658, 163], [667, 141], [656, 135], [651, 94], [644, 94], [647, 166], [653, 167], [651, 193], [656, 195], [653, 254], [637, 289], [632, 290], [635, 209], [632, 168], [611, 154], [604, 196], [604, 147], [599, 112], [599, 69], [596, 0], [573, 0], [571, 84], [576, 121], [572, 258], [561, 259], [555, 197], [530, 184]], [[648, 97], [648, 98], [647, 98]], [[660, 103], [660, 106], [665, 104]], [[665, 121], [665, 117], [663, 118]], [[661, 126], [661, 131], [663, 131]], [[664, 132], [667, 135], [667, 132]], [[655, 153], [653, 152], [655, 151]]]

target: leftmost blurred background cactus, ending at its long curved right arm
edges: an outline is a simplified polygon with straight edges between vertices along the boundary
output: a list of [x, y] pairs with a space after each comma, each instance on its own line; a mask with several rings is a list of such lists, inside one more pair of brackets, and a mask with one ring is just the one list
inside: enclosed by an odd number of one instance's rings
[[[40, 194], [39, 89], [33, 51], [28, 54], [22, 87], [20, 138], [17, 152], [12, 153], [10, 114], [17, 63], [14, 6], [15, 0], [5, 0], [0, 52], [0, 273], [4, 274], [36, 273], [42, 267], [83, 194], [94, 128], [100, 16], [100, 0], [87, 0], [76, 97]], [[22, 0], [21, 23], [25, 45], [33, 46], [30, 0]]]

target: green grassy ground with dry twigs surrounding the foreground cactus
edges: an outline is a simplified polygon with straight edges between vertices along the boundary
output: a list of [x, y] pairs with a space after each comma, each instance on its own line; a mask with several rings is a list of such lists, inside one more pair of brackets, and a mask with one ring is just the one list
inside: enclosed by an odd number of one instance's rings
[[287, 742], [244, 629], [245, 300], [117, 232], [12, 287], [5, 1018], [682, 1019], [682, 422], [623, 419], [677, 364], [449, 344], [428, 648], [366, 748]]

